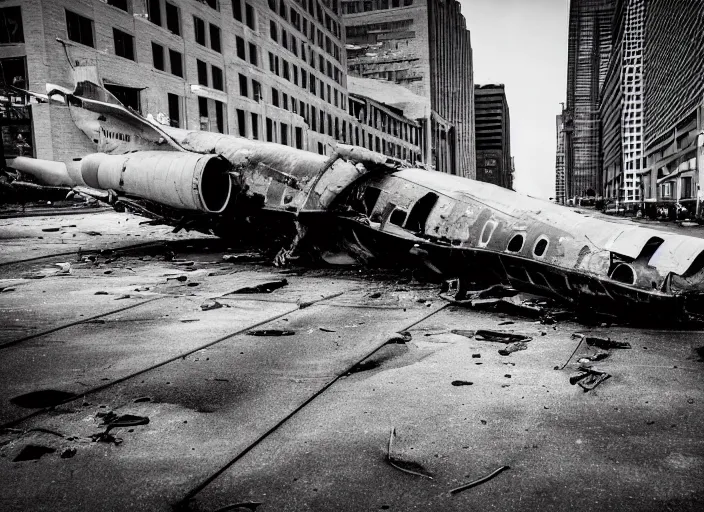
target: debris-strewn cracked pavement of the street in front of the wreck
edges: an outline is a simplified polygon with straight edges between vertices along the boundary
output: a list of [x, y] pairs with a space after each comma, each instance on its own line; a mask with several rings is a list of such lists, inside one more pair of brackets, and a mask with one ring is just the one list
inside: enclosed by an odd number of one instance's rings
[[[0, 219], [0, 509], [700, 509], [704, 331], [541, 324], [142, 220]], [[591, 391], [576, 333], [631, 347]]]

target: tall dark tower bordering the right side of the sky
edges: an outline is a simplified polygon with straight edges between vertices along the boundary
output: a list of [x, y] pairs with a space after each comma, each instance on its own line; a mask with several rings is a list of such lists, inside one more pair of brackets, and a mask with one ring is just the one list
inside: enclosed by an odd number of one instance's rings
[[599, 91], [611, 54], [615, 0], [570, 3], [565, 107], [567, 196], [601, 195]]

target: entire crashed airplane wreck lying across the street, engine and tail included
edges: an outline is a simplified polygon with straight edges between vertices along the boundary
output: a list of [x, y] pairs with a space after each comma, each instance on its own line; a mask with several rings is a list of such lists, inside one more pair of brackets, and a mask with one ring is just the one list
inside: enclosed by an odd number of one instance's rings
[[[411, 168], [364, 148], [329, 158], [274, 143], [160, 125], [80, 82], [40, 100], [69, 108], [96, 152], [10, 168], [170, 224], [257, 233], [276, 263], [422, 265], [614, 315], [704, 317], [704, 240], [586, 217], [491, 184]], [[271, 236], [270, 236], [271, 234]]]

